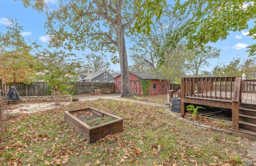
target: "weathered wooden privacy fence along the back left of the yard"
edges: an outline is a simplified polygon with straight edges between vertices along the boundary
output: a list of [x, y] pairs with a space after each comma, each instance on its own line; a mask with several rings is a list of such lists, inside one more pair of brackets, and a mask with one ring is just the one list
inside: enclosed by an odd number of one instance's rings
[[[103, 82], [70, 82], [68, 85], [73, 85], [74, 94], [90, 94], [95, 88], [101, 89], [102, 92], [114, 93], [114, 83]], [[22, 82], [10, 83], [5, 86], [6, 94], [10, 87], [14, 86], [20, 96], [47, 96], [51, 89], [47, 83], [33, 82], [24, 84]]]

